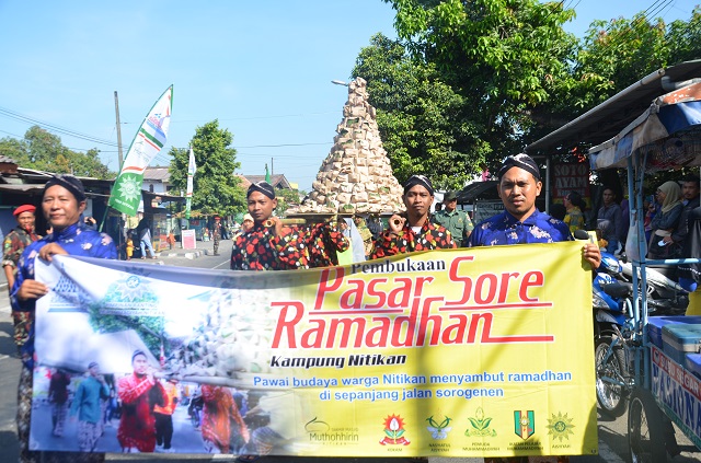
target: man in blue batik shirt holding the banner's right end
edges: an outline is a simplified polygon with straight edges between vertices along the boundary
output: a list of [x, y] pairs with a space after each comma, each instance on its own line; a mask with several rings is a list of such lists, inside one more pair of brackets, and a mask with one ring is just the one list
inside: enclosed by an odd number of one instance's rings
[[[553, 219], [536, 207], [542, 189], [538, 164], [527, 154], [510, 155], [498, 173], [496, 189], [504, 212], [479, 223], [470, 235], [470, 246], [556, 243], [572, 241], [566, 223]], [[598, 268], [601, 253], [594, 243], [584, 246], [584, 258]]]

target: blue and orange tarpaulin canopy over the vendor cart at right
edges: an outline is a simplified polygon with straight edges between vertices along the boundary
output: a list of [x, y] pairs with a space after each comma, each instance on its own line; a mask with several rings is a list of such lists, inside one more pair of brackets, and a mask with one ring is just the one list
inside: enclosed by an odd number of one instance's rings
[[658, 96], [612, 139], [589, 150], [593, 170], [625, 167], [633, 152], [645, 171], [701, 164], [701, 82]]

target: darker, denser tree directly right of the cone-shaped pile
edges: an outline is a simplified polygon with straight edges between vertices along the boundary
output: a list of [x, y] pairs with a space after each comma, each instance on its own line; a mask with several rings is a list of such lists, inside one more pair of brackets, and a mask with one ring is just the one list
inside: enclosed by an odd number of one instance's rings
[[370, 104], [394, 176], [429, 174], [437, 187], [455, 188], [484, 160], [478, 127], [466, 118], [464, 100], [440, 80], [430, 63], [378, 34], [360, 51], [354, 77], [368, 81]]

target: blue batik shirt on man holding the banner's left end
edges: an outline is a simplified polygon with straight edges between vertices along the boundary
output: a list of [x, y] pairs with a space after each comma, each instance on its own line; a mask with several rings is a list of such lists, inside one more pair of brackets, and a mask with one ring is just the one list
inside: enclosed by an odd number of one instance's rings
[[88, 230], [82, 224], [83, 220], [78, 221], [64, 230], [49, 233], [43, 239], [35, 241], [25, 247], [20, 261], [18, 262], [18, 273], [12, 290], [10, 291], [10, 304], [13, 311], [30, 312], [31, 326], [30, 335], [22, 346], [22, 360], [27, 368], [33, 367], [34, 358], [34, 308], [36, 299], [27, 299], [20, 301], [16, 297], [22, 282], [27, 279], [34, 279], [34, 261], [39, 255], [39, 250], [48, 243], [57, 243], [69, 255], [96, 257], [96, 258], [117, 258], [117, 247], [112, 238], [106, 233], [100, 233], [94, 230]]

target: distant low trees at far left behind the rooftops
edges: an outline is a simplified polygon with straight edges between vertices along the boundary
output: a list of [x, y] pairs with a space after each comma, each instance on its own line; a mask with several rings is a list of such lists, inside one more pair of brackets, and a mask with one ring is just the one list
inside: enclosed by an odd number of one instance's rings
[[85, 153], [72, 151], [64, 147], [59, 137], [38, 126], [31, 127], [22, 140], [0, 140], [0, 155], [12, 158], [24, 169], [103, 180], [114, 177], [115, 173], [110, 172], [99, 154], [97, 149]]

